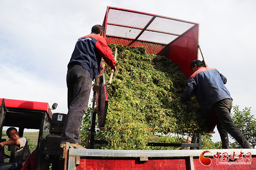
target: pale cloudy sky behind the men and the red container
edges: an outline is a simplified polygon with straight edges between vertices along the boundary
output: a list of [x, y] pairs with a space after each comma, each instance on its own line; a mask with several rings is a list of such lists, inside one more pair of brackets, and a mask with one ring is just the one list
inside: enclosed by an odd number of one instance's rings
[[233, 106], [256, 115], [255, 0], [0, 0], [0, 98], [56, 102], [67, 113], [67, 64], [107, 6], [199, 23], [208, 66], [227, 77]]

